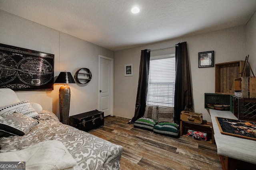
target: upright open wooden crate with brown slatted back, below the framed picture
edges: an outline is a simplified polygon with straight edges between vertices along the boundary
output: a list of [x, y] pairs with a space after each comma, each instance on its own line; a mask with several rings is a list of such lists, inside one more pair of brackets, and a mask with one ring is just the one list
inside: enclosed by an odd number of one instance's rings
[[243, 67], [244, 61], [215, 64], [215, 93], [234, 94], [234, 80], [242, 76]]

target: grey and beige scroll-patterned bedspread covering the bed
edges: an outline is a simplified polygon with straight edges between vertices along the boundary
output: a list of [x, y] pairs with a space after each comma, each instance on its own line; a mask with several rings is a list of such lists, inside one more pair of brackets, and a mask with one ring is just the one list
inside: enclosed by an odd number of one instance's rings
[[47, 140], [61, 141], [80, 169], [119, 169], [122, 147], [59, 122], [54, 113], [39, 113], [40, 123], [22, 137], [0, 138], [0, 152], [25, 149]]

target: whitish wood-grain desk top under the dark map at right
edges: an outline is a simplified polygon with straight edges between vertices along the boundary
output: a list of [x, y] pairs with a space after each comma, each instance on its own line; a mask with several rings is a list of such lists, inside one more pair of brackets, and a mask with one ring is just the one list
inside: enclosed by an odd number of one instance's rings
[[230, 111], [209, 109], [214, 129], [214, 138], [217, 146], [217, 153], [230, 158], [243, 160], [256, 164], [256, 141], [239, 137], [223, 135], [220, 133], [215, 117], [237, 119]]

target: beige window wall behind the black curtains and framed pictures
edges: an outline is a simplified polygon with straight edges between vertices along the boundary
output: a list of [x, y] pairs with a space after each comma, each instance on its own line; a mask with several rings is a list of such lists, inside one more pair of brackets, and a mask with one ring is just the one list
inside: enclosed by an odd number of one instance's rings
[[[246, 26], [223, 29], [201, 35], [183, 37], [139, 48], [114, 52], [114, 115], [134, 116], [140, 53], [143, 49], [160, 49], [179, 42], [187, 42], [190, 61], [194, 111], [203, 113], [203, 119], [211, 121], [204, 109], [204, 93], [215, 92], [215, 67], [198, 68], [198, 52], [214, 51], [214, 63], [244, 60]], [[152, 51], [151, 56], [175, 53], [175, 48]], [[124, 64], [133, 64], [133, 75], [124, 76]]]

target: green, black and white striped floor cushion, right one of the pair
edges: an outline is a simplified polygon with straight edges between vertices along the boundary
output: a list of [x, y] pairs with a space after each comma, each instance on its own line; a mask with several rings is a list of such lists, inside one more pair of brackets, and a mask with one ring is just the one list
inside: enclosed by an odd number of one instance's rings
[[161, 135], [178, 136], [180, 130], [176, 123], [163, 122], [155, 125], [153, 131]]

